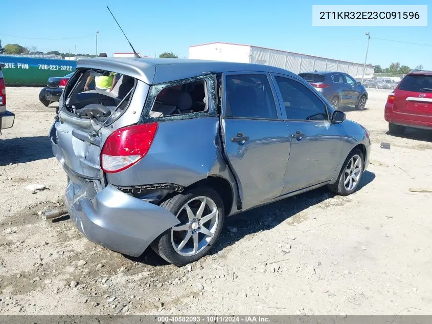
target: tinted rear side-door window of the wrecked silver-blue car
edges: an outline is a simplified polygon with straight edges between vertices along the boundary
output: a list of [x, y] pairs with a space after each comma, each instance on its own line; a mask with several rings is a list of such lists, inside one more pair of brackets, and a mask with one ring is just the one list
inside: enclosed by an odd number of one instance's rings
[[226, 117], [278, 118], [267, 75], [227, 75], [225, 80]]

